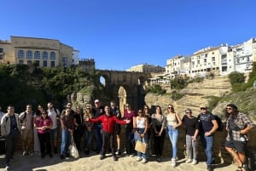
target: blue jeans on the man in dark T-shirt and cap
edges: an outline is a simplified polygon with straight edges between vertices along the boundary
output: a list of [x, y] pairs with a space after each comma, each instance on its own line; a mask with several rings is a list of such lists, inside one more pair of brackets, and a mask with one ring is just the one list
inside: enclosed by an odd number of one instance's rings
[[213, 135], [206, 136], [204, 133], [201, 134], [202, 145], [207, 155], [207, 165], [212, 164], [212, 146], [213, 146]]

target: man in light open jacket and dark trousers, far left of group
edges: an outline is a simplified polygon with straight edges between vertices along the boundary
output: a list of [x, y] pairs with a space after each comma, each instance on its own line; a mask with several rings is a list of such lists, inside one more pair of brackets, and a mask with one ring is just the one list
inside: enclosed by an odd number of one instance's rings
[[5, 170], [9, 170], [10, 159], [14, 157], [15, 146], [19, 142], [20, 136], [20, 119], [18, 114], [15, 113], [15, 107], [13, 105], [7, 107], [7, 113], [2, 117], [1, 134], [5, 138]]

